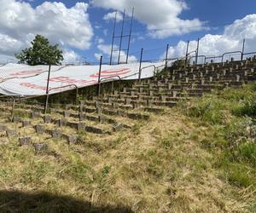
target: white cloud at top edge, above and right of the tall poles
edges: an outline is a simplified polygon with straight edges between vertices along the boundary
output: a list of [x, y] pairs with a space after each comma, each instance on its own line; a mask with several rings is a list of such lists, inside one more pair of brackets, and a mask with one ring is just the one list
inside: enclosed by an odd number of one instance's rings
[[[135, 18], [147, 25], [149, 35], [164, 38], [172, 35], [200, 31], [203, 28], [201, 20], [182, 20], [179, 15], [184, 9], [189, 9], [181, 0], [91, 0], [96, 7], [104, 9], [135, 8]], [[128, 11], [131, 15], [131, 11]]]

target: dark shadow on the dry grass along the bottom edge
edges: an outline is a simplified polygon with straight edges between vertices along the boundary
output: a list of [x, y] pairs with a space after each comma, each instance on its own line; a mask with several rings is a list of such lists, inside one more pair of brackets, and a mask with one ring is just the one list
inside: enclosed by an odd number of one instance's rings
[[96, 206], [90, 202], [49, 193], [0, 191], [0, 212], [132, 212], [124, 206]]

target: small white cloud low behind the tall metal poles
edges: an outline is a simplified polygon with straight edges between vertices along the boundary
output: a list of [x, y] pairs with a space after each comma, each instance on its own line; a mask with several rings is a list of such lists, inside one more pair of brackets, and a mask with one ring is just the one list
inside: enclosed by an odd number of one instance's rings
[[[98, 54], [95, 54], [95, 57], [96, 59], [98, 60], [101, 55], [110, 55], [110, 52], [111, 52], [111, 45], [108, 45], [108, 44], [103, 44], [103, 43], [99, 43], [97, 45], [97, 48], [99, 50], [101, 50], [102, 53], [98, 53]], [[117, 46], [113, 46], [114, 49], [118, 49]], [[118, 51], [115, 51], [113, 52], [113, 63], [116, 63], [118, 61], [118, 58], [119, 58], [119, 52]], [[124, 51], [121, 51], [120, 52], [120, 63], [124, 63], [126, 61], [126, 54]], [[128, 62], [135, 62], [137, 61], [137, 58], [136, 56], [134, 55], [129, 55], [128, 56]]]

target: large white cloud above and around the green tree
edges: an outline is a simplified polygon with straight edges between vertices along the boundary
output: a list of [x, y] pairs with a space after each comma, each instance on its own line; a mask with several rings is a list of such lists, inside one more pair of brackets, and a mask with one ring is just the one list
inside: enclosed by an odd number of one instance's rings
[[33, 9], [18, 0], [0, 0], [0, 55], [14, 55], [30, 45], [37, 34], [62, 49], [89, 49], [93, 29], [87, 3], [68, 9], [63, 3], [44, 2]]

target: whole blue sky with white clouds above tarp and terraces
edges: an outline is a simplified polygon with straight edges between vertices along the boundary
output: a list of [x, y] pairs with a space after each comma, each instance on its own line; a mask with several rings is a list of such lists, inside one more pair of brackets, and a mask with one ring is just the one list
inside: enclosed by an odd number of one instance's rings
[[[255, 0], [88, 0], [43, 1], [0, 0], [0, 62], [12, 61], [13, 55], [29, 47], [36, 34], [59, 43], [65, 60], [109, 60], [113, 18], [118, 11], [117, 34], [126, 10], [125, 34], [129, 32], [131, 10], [135, 8], [129, 60], [157, 60], [170, 44], [170, 57], [196, 48], [201, 38], [200, 55], [220, 55], [241, 50], [256, 51]], [[127, 40], [124, 39], [123, 49]], [[114, 48], [119, 40], [115, 39]], [[117, 54], [113, 59], [117, 59]], [[121, 60], [125, 60], [121, 52]]]

